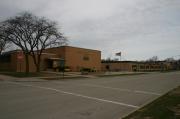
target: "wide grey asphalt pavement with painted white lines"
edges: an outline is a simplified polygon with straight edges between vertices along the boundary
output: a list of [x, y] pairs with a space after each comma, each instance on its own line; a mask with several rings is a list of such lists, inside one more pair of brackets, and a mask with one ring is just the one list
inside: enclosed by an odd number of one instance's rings
[[1, 119], [120, 119], [180, 85], [180, 72], [0, 81]]

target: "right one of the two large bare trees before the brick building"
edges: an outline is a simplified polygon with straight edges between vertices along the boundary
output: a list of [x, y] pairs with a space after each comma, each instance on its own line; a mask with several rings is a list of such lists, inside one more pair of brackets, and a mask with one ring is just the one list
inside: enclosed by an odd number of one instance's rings
[[36, 36], [35, 47], [31, 47], [31, 55], [36, 65], [37, 72], [40, 71], [41, 55], [47, 47], [61, 46], [66, 44], [66, 38], [58, 31], [57, 23], [46, 18], [36, 19], [34, 35]]

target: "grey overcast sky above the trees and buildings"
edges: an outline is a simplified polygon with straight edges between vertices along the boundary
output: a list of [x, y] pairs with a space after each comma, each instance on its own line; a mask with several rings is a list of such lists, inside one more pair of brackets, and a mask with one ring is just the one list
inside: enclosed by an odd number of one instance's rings
[[69, 45], [102, 58], [180, 58], [180, 0], [0, 0], [0, 21], [23, 11], [57, 21]]

